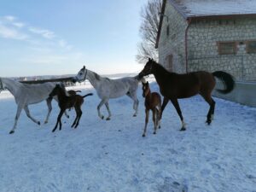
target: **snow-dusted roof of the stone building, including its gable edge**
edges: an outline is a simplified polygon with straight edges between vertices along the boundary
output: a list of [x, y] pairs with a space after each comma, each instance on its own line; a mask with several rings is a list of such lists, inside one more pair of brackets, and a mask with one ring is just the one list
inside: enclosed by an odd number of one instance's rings
[[171, 3], [185, 20], [256, 18], [256, 0], [163, 0], [155, 48], [158, 48], [166, 3]]

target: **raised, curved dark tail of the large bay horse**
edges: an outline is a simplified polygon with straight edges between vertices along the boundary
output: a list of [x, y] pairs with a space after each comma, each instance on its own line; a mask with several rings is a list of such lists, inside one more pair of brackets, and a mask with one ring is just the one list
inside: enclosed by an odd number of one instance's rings
[[218, 92], [222, 94], [228, 94], [235, 88], [235, 80], [230, 73], [226, 73], [223, 71], [213, 72], [212, 75], [222, 81], [224, 84], [224, 90], [217, 89]]

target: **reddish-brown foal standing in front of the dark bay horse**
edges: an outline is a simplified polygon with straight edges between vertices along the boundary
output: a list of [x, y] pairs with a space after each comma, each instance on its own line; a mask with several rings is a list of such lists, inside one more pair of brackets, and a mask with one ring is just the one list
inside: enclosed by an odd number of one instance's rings
[[153, 122], [154, 122], [154, 134], [156, 134], [157, 128], [160, 129], [160, 115], [161, 115], [161, 96], [157, 92], [152, 92], [149, 88], [148, 81], [147, 83], [143, 83], [143, 97], [145, 97], [145, 113], [146, 113], [146, 118], [145, 118], [145, 127], [143, 131], [143, 137], [146, 136], [146, 131], [147, 131], [147, 125], [148, 125], [148, 115], [149, 115], [149, 110], [152, 111], [153, 116]]

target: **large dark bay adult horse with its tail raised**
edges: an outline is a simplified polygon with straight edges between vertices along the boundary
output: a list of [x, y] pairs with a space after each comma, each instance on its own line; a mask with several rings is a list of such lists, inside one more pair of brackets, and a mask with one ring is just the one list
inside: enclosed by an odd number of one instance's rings
[[186, 74], [170, 73], [159, 63], [152, 59], [148, 59], [143, 71], [139, 73], [138, 78], [142, 78], [148, 74], [154, 74], [156, 82], [160, 86], [160, 93], [164, 96], [164, 101], [161, 107], [161, 113], [166, 108], [169, 100], [176, 108], [177, 113], [182, 121], [182, 128], [180, 131], [185, 131], [185, 123], [183, 115], [179, 108], [177, 99], [188, 98], [200, 94], [206, 102], [210, 105], [207, 113], [207, 124], [210, 125], [213, 119], [215, 102], [212, 99], [212, 90], [215, 87], [216, 81], [214, 77], [222, 80], [225, 89], [218, 90], [222, 94], [230, 93], [235, 87], [235, 81], [229, 73], [223, 71], [216, 71], [208, 73], [205, 71], [192, 72]]

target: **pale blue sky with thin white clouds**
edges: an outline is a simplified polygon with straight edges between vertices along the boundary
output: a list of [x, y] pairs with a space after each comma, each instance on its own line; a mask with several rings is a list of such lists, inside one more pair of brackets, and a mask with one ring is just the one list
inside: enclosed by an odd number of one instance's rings
[[137, 73], [147, 0], [1, 0], [0, 77]]

